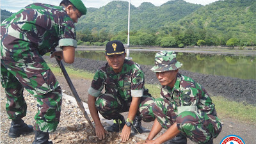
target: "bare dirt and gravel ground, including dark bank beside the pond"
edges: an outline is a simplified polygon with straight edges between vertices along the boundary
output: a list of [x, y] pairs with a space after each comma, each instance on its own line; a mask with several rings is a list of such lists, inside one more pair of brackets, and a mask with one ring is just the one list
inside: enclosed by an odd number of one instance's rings
[[[56, 60], [49, 59], [47, 56], [44, 56], [44, 58], [47, 62], [57, 65]], [[72, 65], [66, 63], [63, 64], [66, 67], [87, 70], [88, 72], [95, 72], [95, 70], [105, 63], [106, 61], [76, 58]], [[156, 79], [156, 75], [150, 70], [151, 66], [141, 65], [141, 67], [145, 72], [146, 83], [159, 84]], [[211, 95], [221, 95], [226, 97], [228, 100], [235, 100], [238, 102], [244, 102], [244, 104], [253, 104], [256, 106], [256, 80], [212, 76], [188, 72], [186, 70], [180, 70], [180, 73], [195, 79], [195, 81], [202, 84], [207, 92], [209, 92]], [[57, 79], [61, 84], [63, 92], [67, 95], [72, 95], [65, 78], [63, 76], [58, 76]], [[91, 81], [75, 77], [71, 77], [71, 79], [79, 97], [81, 97], [81, 100], [87, 102], [87, 90], [90, 87]], [[35, 122], [33, 116], [36, 113], [36, 101], [31, 95], [28, 94], [28, 92], [25, 91], [24, 95], [28, 104], [28, 113], [24, 118], [24, 121], [28, 124], [33, 124]], [[8, 120], [6, 116], [4, 108], [5, 100], [6, 98], [4, 96], [4, 91], [3, 88], [1, 88], [1, 143], [32, 143], [34, 136], [33, 134], [28, 134], [15, 139], [8, 137], [10, 120]], [[124, 113], [124, 116], [125, 115], [127, 115], [127, 113]], [[243, 138], [246, 144], [256, 143], [256, 125], [246, 124], [228, 117], [221, 117], [221, 122], [223, 122], [223, 129], [218, 138], [214, 139], [214, 144], [220, 143], [225, 136], [230, 134], [240, 136]], [[149, 130], [151, 129], [152, 124], [152, 122], [142, 123], [143, 127]], [[104, 123], [104, 127], [107, 127], [108, 125], [109, 124]], [[145, 133], [145, 136], [147, 136], [147, 134], [148, 132]], [[121, 143], [118, 133], [109, 133], [106, 140], [97, 140], [97, 138], [95, 138], [95, 136], [92, 134], [92, 130], [86, 123], [80, 109], [72, 104], [72, 102], [65, 99], [63, 99], [60, 124], [58, 125], [57, 131], [51, 133], [50, 138], [54, 143]], [[141, 136], [141, 138], [138, 138], [138, 136], [132, 136], [127, 143], [137, 143], [138, 141], [143, 141], [143, 136]], [[193, 142], [188, 140], [188, 143], [191, 144]]]

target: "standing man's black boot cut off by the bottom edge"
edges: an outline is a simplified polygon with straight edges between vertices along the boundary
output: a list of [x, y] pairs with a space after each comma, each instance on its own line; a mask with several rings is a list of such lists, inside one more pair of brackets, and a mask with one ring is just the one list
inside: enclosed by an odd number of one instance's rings
[[49, 140], [49, 132], [36, 131], [35, 140], [32, 144], [52, 144]]

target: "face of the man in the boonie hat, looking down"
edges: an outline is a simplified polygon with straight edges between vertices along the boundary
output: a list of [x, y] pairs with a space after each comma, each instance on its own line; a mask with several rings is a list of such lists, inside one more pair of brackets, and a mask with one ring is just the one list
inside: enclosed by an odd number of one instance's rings
[[166, 72], [156, 72], [156, 77], [162, 86], [174, 86], [176, 82], [178, 70], [170, 70]]

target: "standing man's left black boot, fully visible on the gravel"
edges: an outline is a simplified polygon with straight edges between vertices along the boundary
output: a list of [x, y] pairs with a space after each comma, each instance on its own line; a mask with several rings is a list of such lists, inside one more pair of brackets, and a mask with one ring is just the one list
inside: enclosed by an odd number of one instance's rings
[[23, 120], [12, 120], [8, 136], [10, 138], [17, 138], [20, 136], [20, 134], [28, 134], [33, 131], [33, 126], [25, 124]]

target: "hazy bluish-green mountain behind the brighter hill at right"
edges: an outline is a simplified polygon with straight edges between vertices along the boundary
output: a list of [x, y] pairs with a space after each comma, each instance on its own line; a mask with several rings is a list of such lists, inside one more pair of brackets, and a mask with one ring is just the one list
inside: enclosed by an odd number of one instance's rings
[[[77, 30], [106, 28], [116, 33], [127, 29], [128, 22], [127, 1], [111, 1], [99, 9], [88, 8], [88, 14], [79, 19]], [[186, 3], [186, 1], [168, 1], [161, 6], [152, 3], [141, 3], [139, 7], [131, 4], [130, 28], [132, 30], [157, 30], [161, 26], [168, 26], [186, 15], [202, 7], [200, 4]]]

